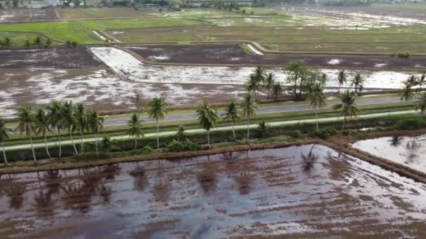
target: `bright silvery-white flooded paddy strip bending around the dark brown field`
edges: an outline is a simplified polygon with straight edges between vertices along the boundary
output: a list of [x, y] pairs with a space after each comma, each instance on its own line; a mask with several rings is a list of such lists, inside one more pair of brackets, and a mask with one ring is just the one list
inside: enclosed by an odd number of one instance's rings
[[[90, 51], [122, 78], [135, 82], [193, 83], [217, 85], [243, 85], [254, 67], [231, 66], [171, 66], [144, 64], [129, 52], [118, 48], [90, 48]], [[220, 56], [221, 53], [215, 54]], [[158, 57], [162, 57], [160, 54]], [[331, 59], [329, 64], [338, 64], [339, 59]], [[269, 68], [275, 80], [285, 84], [287, 73], [282, 68]], [[322, 69], [329, 81], [327, 87], [338, 87], [338, 70]], [[356, 73], [365, 78], [365, 88], [396, 89], [403, 86], [411, 72], [395, 71], [348, 71], [349, 78]], [[349, 85], [346, 85], [349, 86]]]

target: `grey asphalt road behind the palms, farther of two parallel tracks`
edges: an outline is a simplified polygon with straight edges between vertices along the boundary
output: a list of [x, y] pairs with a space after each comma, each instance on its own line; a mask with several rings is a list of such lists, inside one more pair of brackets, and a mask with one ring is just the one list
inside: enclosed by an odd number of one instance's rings
[[[399, 97], [388, 97], [388, 98], [380, 98], [380, 99], [359, 99], [357, 101], [357, 106], [369, 106], [369, 105], [378, 105], [383, 103], [398, 103], [401, 102]], [[337, 103], [329, 103], [327, 104], [327, 108], [331, 108]], [[303, 110], [312, 110], [312, 107], [308, 104], [298, 105], [298, 106], [271, 106], [265, 108], [259, 108], [256, 110], [258, 115], [261, 114], [270, 114], [270, 113], [284, 113], [284, 112], [295, 112], [295, 111], [303, 111]], [[219, 115], [223, 114], [223, 111], [218, 112]], [[197, 115], [195, 113], [188, 114], [179, 114], [179, 115], [167, 115], [162, 122], [171, 122], [171, 121], [181, 121], [181, 120], [193, 120], [197, 119]], [[155, 122], [152, 118], [144, 118], [144, 122]], [[128, 119], [107, 119], [104, 122], [104, 126], [123, 126], [128, 124]]]

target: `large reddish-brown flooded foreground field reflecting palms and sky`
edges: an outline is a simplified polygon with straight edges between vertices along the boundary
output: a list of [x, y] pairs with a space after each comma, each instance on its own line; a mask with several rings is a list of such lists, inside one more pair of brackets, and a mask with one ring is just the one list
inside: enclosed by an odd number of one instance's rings
[[316, 145], [2, 175], [0, 237], [426, 236], [426, 185]]

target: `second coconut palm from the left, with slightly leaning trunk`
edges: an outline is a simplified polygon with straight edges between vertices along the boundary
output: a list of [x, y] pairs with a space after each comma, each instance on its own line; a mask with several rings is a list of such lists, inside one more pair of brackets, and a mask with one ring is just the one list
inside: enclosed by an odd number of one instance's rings
[[37, 161], [32, 141], [32, 133], [34, 132], [34, 112], [32, 106], [23, 106], [18, 109], [18, 127], [16, 129], [18, 129], [21, 134], [25, 132], [28, 136], [29, 142], [31, 143], [32, 156], [34, 161]]

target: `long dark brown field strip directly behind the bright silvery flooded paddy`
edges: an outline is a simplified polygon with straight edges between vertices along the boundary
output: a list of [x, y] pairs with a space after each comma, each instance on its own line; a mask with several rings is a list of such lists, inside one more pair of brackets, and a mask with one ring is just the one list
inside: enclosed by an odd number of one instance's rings
[[309, 66], [347, 68], [425, 68], [426, 57], [360, 57], [249, 55], [240, 45], [142, 45], [128, 47], [152, 62], [174, 64], [226, 64], [288, 66], [304, 61]]

